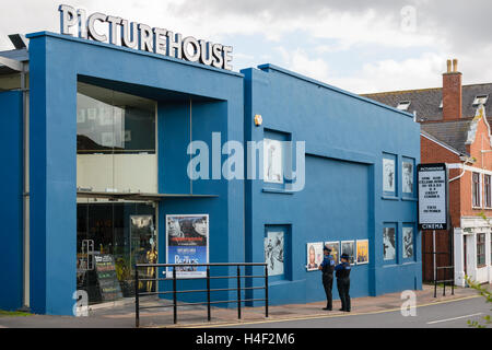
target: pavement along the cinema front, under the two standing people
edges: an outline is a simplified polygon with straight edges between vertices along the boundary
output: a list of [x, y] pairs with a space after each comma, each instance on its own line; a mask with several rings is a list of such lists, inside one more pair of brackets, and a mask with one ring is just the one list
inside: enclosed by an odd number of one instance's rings
[[[455, 288], [454, 295], [450, 288], [437, 289], [437, 298], [434, 298], [434, 287], [424, 284], [421, 291], [414, 291], [417, 307], [438, 305], [450, 302], [465, 301], [478, 298], [477, 291], [470, 288]], [[345, 315], [371, 315], [400, 311], [402, 303], [401, 293], [389, 293], [379, 296], [352, 298], [351, 313], [338, 311], [340, 301], [333, 301], [333, 311], [321, 310], [326, 302], [307, 304], [289, 304], [269, 307], [269, 317], [265, 317], [265, 307], [243, 307], [242, 318], [237, 318], [237, 308], [212, 307], [211, 322], [207, 320], [206, 306], [178, 307], [177, 324], [173, 323], [173, 307], [148, 308], [140, 312], [140, 327], [142, 328], [212, 328], [212, 327], [242, 327], [245, 325], [262, 326], [268, 323], [289, 320], [316, 319], [324, 317], [337, 317]], [[141, 306], [166, 306], [168, 301], [149, 299], [141, 302]], [[103, 305], [104, 306], [104, 305]], [[92, 306], [89, 316], [0, 316], [0, 328], [134, 328], [134, 303], [126, 302]]]

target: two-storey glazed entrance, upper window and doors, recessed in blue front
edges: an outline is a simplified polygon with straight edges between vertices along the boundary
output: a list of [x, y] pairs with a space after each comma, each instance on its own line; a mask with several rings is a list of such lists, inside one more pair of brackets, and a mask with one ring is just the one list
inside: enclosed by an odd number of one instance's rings
[[133, 296], [134, 264], [157, 261], [155, 109], [151, 100], [78, 83], [77, 290], [90, 304]]

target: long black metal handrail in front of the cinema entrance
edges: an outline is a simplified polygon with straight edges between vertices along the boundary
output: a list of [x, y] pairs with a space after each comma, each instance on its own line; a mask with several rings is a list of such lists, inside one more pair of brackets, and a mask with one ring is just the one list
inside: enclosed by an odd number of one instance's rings
[[[195, 278], [179, 278], [179, 280], [206, 280], [207, 288], [199, 290], [177, 290], [177, 277], [176, 277], [176, 268], [180, 267], [197, 267], [204, 266], [207, 267], [207, 276], [206, 277], [195, 277]], [[210, 276], [210, 267], [236, 267], [236, 273], [234, 276]], [[265, 268], [265, 275], [241, 275], [241, 267], [255, 267], [260, 266]], [[171, 307], [173, 306], [173, 320], [174, 324], [177, 323], [177, 307], [178, 306], [188, 306], [188, 305], [207, 305], [207, 319], [211, 320], [211, 305], [212, 304], [226, 304], [226, 303], [236, 303], [237, 304], [237, 318], [242, 318], [242, 303], [244, 302], [253, 302], [253, 301], [262, 301], [265, 302], [265, 317], [268, 317], [268, 267], [266, 262], [213, 262], [213, 264], [136, 264], [134, 265], [134, 304], [136, 304], [136, 327], [140, 326], [140, 310], [143, 308], [157, 308], [157, 307]], [[139, 268], [173, 268], [172, 278], [139, 278]], [[245, 271], [246, 273], [246, 271]], [[155, 276], [157, 276], [157, 271], [155, 271]], [[210, 288], [210, 280], [212, 279], [236, 279], [236, 288]], [[265, 285], [261, 287], [242, 287], [242, 279], [254, 279], [254, 278], [263, 278]], [[142, 281], [173, 281], [173, 290], [165, 292], [140, 292], [139, 291], [139, 282]], [[241, 292], [246, 290], [258, 290], [265, 289], [265, 299], [242, 299]], [[226, 300], [226, 301], [211, 301], [211, 292], [223, 292], [223, 291], [237, 291], [237, 300]], [[183, 293], [207, 293], [207, 302], [199, 303], [179, 303], [177, 302], [177, 294]], [[157, 306], [140, 306], [140, 296], [144, 295], [161, 295], [161, 294], [173, 294], [173, 304], [171, 305], [157, 305]]]

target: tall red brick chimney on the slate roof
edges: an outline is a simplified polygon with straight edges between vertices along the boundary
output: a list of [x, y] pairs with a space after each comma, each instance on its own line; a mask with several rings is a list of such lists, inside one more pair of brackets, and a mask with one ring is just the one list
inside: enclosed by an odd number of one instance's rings
[[443, 74], [443, 120], [461, 118], [461, 73], [458, 60], [447, 60], [447, 72]]

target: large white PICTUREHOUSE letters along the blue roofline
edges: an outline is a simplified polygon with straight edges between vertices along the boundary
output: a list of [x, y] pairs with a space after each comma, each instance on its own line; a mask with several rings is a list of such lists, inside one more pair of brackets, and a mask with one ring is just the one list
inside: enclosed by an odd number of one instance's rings
[[63, 35], [75, 34], [85, 39], [232, 70], [230, 62], [233, 48], [231, 46], [198, 40], [192, 36], [184, 38], [179, 33], [160, 27], [152, 28], [143, 23], [130, 23], [128, 20], [101, 12], [87, 16], [85, 10], [66, 4], [60, 4], [58, 11], [60, 12], [60, 33]]

